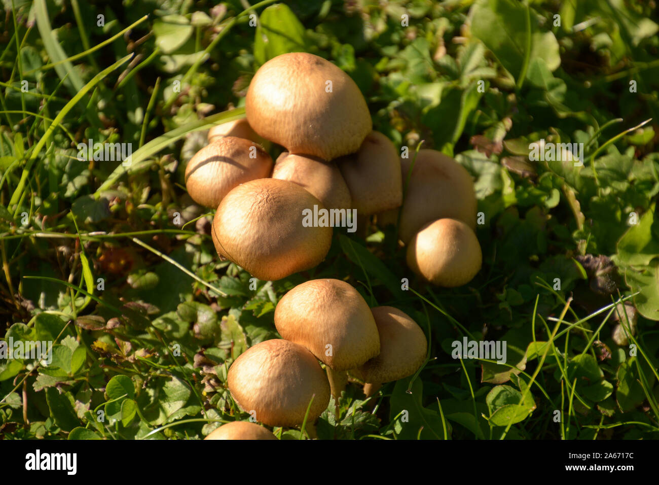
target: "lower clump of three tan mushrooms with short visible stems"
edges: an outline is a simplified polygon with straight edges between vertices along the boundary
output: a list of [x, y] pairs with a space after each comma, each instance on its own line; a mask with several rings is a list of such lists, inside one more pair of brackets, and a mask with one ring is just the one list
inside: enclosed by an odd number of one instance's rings
[[229, 391], [258, 422], [295, 427], [306, 420], [310, 436], [330, 394], [338, 408], [347, 371], [364, 381], [370, 397], [380, 383], [415, 373], [426, 358], [426, 337], [409, 315], [393, 307], [370, 309], [341, 280], [295, 286], [279, 300], [275, 326], [282, 339], [256, 344], [231, 364]]

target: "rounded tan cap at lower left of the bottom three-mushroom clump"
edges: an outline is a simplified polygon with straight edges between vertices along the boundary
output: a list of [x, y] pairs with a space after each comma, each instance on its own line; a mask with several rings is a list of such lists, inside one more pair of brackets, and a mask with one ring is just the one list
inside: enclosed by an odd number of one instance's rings
[[229, 368], [231, 396], [256, 420], [270, 426], [297, 426], [312, 397], [308, 421], [329, 404], [329, 381], [318, 360], [294, 342], [266, 340], [248, 348]]

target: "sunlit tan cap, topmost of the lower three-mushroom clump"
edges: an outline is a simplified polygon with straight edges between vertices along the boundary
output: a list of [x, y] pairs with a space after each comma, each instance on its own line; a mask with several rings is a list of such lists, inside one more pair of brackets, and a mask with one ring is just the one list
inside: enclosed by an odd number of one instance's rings
[[281, 337], [304, 345], [336, 371], [357, 368], [380, 353], [378, 327], [368, 304], [341, 280], [295, 286], [275, 308], [275, 327]]

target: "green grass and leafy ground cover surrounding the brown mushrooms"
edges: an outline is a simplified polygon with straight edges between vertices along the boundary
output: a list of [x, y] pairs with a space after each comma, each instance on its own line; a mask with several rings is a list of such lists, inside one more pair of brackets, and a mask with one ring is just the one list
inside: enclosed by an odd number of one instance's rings
[[[55, 342], [51, 366], [0, 360], [5, 439], [200, 439], [248, 420], [229, 366], [278, 337], [279, 298], [311, 278], [402, 309], [430, 345], [415, 375], [370, 399], [353, 379], [338, 418], [331, 401], [315, 424], [274, 429], [280, 439], [312, 426], [320, 439], [659, 438], [656, 11], [126, 3], [13, 0], [0, 15], [0, 336]], [[317, 268], [256, 290], [219, 261], [185, 164], [204, 130], [244, 116], [259, 61], [291, 50], [351, 75], [397, 148], [441, 150], [473, 176], [473, 281], [423, 284], [376, 220], [366, 238], [336, 230]], [[89, 139], [131, 143], [129, 166], [78, 160]], [[583, 143], [583, 166], [530, 161], [539, 139]], [[612, 339], [615, 319], [628, 344]], [[507, 342], [507, 362], [451, 358], [463, 337]]]

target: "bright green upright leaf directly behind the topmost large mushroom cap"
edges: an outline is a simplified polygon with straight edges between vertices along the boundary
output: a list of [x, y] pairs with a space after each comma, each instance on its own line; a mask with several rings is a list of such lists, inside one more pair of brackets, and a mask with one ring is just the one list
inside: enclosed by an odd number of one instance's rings
[[254, 60], [263, 65], [277, 55], [306, 51], [304, 26], [283, 3], [261, 13], [254, 36]]

